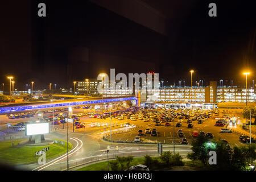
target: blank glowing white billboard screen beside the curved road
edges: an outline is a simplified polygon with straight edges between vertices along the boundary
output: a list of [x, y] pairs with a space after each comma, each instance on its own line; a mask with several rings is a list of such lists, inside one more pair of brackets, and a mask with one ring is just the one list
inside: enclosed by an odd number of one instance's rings
[[49, 123], [32, 123], [27, 124], [25, 135], [41, 135], [49, 133]]

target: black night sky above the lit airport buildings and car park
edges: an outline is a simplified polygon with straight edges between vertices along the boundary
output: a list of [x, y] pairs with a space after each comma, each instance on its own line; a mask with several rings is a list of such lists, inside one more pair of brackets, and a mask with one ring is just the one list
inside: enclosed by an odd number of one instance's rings
[[[37, 15], [40, 2], [46, 18]], [[1, 1], [0, 82], [7, 88], [12, 75], [19, 90], [31, 81], [37, 89], [50, 82], [71, 87], [110, 68], [116, 74], [154, 71], [168, 85], [189, 85], [190, 69], [205, 84], [222, 79], [243, 86], [245, 69], [249, 85], [255, 79], [254, 1], [143, 2], [166, 17], [167, 35], [91, 1]], [[208, 16], [210, 2], [217, 17]]]

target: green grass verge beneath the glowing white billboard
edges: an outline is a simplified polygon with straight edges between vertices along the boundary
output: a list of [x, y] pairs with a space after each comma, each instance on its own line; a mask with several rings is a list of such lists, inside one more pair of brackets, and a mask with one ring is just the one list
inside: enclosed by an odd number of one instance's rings
[[[65, 142], [65, 145], [59, 145], [54, 143], [47, 146], [18, 146], [18, 143], [27, 140], [27, 139], [16, 139], [14, 141], [7, 140], [0, 142], [0, 162], [8, 163], [11, 165], [19, 165], [19, 164], [30, 164], [37, 163], [38, 158], [35, 158], [35, 152], [43, 150], [43, 148], [49, 147], [49, 151], [46, 151], [46, 160], [55, 158], [61, 154], [67, 152], [67, 141], [61, 140]], [[59, 140], [59, 139], [57, 139]], [[73, 146], [69, 142], [68, 148], [71, 149]]]

